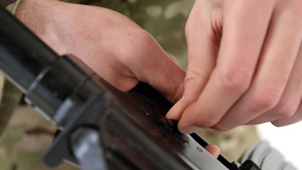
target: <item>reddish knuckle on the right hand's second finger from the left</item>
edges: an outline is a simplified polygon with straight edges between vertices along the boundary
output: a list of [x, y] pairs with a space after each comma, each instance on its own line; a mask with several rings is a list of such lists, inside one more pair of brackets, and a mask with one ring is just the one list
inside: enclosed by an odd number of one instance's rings
[[244, 93], [250, 85], [250, 75], [243, 69], [229, 69], [221, 73], [221, 82], [226, 90]]

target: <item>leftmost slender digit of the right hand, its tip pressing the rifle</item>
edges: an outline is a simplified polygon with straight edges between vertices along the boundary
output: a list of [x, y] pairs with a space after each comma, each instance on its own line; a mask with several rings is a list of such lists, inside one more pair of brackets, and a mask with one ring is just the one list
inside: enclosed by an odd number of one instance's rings
[[[205, 18], [205, 20], [201, 18], [206, 16], [210, 7], [205, 7], [201, 11], [199, 9], [201, 2], [195, 2], [186, 26], [188, 66], [184, 80], [185, 91], [181, 100], [167, 113], [166, 117], [168, 119], [179, 120], [188, 105], [198, 99], [215, 65], [218, 46], [211, 38], [216, 35], [213, 32], [209, 33], [212, 18]], [[194, 20], [196, 18], [201, 19]], [[195, 24], [195, 22], [199, 22], [201, 25]]]

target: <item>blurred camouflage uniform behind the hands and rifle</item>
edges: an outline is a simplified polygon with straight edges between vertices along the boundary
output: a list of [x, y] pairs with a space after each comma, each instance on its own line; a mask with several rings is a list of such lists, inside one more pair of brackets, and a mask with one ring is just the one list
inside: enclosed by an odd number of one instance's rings
[[[102, 6], [130, 17], [151, 33], [165, 51], [176, 56], [182, 67], [186, 67], [184, 27], [193, 0], [64, 0], [64, 2]], [[0, 88], [1, 82], [3, 80], [0, 75]], [[54, 131], [55, 127], [31, 107], [18, 107], [0, 138], [0, 169], [49, 169], [42, 163], [41, 155], [49, 146]], [[257, 139], [254, 126], [241, 126], [230, 132], [201, 130], [199, 133], [210, 143], [219, 145], [222, 153], [230, 160], [238, 159]], [[62, 164], [55, 169], [75, 168]]]

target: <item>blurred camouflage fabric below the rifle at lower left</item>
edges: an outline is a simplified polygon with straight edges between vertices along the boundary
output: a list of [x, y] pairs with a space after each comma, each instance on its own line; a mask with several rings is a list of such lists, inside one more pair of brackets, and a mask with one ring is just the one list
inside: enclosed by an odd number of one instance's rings
[[[50, 170], [42, 161], [45, 149], [50, 145], [55, 127], [30, 106], [19, 106], [0, 139], [0, 169]], [[76, 169], [61, 164], [56, 170]]]

